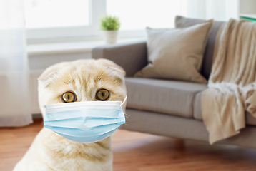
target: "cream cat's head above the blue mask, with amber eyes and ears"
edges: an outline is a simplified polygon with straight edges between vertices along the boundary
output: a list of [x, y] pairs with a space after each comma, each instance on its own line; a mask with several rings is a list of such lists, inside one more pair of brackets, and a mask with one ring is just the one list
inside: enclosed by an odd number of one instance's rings
[[[81, 101], [122, 101], [126, 96], [125, 72], [106, 59], [58, 63], [39, 77], [39, 105]], [[125, 108], [125, 105], [124, 105]]]

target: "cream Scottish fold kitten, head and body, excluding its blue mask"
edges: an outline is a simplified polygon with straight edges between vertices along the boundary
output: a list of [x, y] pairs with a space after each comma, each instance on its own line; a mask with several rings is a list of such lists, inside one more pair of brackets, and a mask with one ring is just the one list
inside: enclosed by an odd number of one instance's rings
[[[39, 105], [80, 101], [122, 101], [126, 96], [125, 72], [112, 61], [88, 59], [58, 63], [41, 74]], [[125, 105], [123, 105], [123, 110]], [[42, 128], [14, 171], [112, 170], [111, 136], [84, 144]]]

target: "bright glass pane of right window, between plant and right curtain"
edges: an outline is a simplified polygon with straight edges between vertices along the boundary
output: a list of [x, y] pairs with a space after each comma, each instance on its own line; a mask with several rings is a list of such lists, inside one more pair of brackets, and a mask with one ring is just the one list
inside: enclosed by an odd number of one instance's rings
[[119, 16], [121, 30], [174, 27], [174, 17], [184, 15], [184, 0], [107, 0], [107, 14]]

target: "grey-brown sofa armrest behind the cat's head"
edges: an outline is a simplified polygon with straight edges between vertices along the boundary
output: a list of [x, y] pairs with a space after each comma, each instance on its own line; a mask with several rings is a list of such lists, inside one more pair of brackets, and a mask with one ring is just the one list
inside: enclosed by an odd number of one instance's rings
[[147, 65], [146, 41], [100, 46], [92, 49], [92, 58], [106, 58], [124, 68], [127, 77]]

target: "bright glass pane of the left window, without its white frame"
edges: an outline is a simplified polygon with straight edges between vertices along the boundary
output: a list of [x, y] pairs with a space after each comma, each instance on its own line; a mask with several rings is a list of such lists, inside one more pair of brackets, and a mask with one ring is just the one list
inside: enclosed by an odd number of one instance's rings
[[25, 0], [26, 28], [89, 25], [89, 0]]

